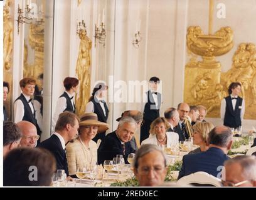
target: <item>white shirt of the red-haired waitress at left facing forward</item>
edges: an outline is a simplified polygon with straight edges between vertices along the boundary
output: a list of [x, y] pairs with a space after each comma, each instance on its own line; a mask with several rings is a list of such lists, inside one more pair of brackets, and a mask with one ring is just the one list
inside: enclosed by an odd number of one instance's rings
[[[24, 95], [26, 101], [29, 101], [30, 96], [28, 96], [24, 93], [21, 93], [21, 94]], [[30, 107], [32, 113], [34, 113], [35, 111], [34, 111], [32, 102], [30, 101], [28, 104], [29, 104], [29, 107]], [[13, 104], [13, 121], [14, 121], [14, 123], [18, 123], [19, 121], [22, 121], [23, 117], [24, 117], [24, 105], [23, 105], [22, 101], [20, 99], [18, 99]]]

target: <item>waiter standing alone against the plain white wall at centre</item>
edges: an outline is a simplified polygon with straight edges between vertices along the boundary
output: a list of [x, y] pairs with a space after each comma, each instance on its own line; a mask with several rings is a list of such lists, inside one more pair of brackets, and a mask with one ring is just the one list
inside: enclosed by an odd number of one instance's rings
[[140, 143], [144, 141], [144, 139], [149, 138], [149, 129], [150, 124], [156, 118], [160, 116], [159, 111], [162, 104], [162, 95], [161, 93], [157, 93], [157, 86], [160, 83], [160, 79], [156, 76], [151, 77], [149, 79], [149, 91], [146, 93], [146, 104], [144, 106], [143, 119], [144, 123], [141, 126], [141, 138]]

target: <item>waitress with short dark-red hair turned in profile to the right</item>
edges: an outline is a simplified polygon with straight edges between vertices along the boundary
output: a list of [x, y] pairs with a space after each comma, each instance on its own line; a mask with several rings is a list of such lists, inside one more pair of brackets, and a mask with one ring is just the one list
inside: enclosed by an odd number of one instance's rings
[[77, 78], [67, 77], [63, 81], [65, 92], [61, 94], [60, 98], [56, 103], [55, 113], [51, 122], [51, 131], [55, 131], [55, 125], [58, 120], [60, 113], [69, 111], [75, 113], [75, 93], [78, 90], [79, 80]]

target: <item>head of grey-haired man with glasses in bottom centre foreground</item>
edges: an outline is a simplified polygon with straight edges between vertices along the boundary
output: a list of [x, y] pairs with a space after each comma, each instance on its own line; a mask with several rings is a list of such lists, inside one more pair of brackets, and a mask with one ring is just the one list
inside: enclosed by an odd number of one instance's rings
[[163, 185], [166, 177], [166, 158], [154, 144], [144, 144], [134, 158], [134, 175], [139, 186]]

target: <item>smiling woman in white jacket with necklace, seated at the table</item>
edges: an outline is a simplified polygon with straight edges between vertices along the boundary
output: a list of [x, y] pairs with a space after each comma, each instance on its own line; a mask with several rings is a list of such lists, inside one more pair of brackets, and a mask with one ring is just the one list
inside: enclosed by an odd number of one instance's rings
[[149, 138], [142, 141], [143, 144], [156, 144], [160, 146], [161, 144], [166, 145], [166, 147], [171, 147], [179, 144], [179, 135], [174, 132], [166, 132], [169, 128], [168, 121], [165, 118], [156, 118], [150, 126]]

